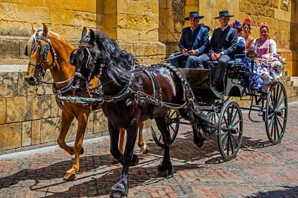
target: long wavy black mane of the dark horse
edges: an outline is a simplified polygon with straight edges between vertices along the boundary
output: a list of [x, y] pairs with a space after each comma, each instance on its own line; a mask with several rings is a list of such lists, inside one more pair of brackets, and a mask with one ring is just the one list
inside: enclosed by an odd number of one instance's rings
[[[120, 49], [118, 44], [108, 38], [104, 33], [100, 31], [94, 31], [94, 33], [101, 63], [104, 65], [103, 74], [105, 77], [113, 81], [119, 87], [123, 86], [123, 84], [127, 84], [131, 78], [135, 86], [140, 85], [140, 79], [138, 80], [136, 75], [132, 77], [133, 71], [131, 70], [136, 62], [133, 54]], [[83, 37], [81, 42], [90, 42], [90, 35]]]

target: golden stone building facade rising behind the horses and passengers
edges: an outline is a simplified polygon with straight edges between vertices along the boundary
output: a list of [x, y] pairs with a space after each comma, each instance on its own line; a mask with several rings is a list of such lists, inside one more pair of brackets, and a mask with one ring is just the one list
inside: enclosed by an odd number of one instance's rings
[[[259, 26], [267, 22], [270, 36], [277, 42], [278, 53], [287, 60], [289, 75], [298, 75], [298, 5], [295, 0], [1, 0], [0, 64], [26, 64], [26, 41], [45, 23], [63, 38], [78, 42], [82, 27], [105, 32], [134, 55], [172, 53], [179, 40], [184, 20], [198, 10], [205, 18], [200, 23], [220, 26], [214, 19], [220, 10], [229, 10], [240, 22], [250, 17], [252, 36], [259, 37]], [[154, 30], [155, 29], [155, 30]], [[152, 31], [150, 31], [152, 30]], [[141, 63], [159, 61], [169, 54], [139, 57]]]

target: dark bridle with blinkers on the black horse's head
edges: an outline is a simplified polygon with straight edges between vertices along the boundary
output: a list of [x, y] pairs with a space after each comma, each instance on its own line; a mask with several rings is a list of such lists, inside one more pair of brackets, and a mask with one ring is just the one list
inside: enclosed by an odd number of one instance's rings
[[[90, 70], [90, 72], [89, 72], [89, 75], [86, 77], [86, 76], [84, 76], [83, 74], [81, 74], [81, 73], [79, 73], [79, 72], [74, 72], [74, 76], [78, 76], [78, 77], [80, 77], [81, 79], [83, 79], [83, 80], [85, 80], [86, 81], [86, 89], [87, 90], [89, 90], [89, 86], [92, 86], [92, 83], [90, 82], [91, 81], [91, 74], [93, 73], [93, 71], [94, 71], [94, 68], [95, 68], [95, 65], [96, 65], [96, 63], [97, 63], [97, 59], [100, 57], [99, 55], [97, 55], [97, 53], [95, 53], [95, 55], [93, 56], [93, 55], [91, 55], [91, 53], [90, 53], [90, 48], [91, 49], [97, 49], [97, 46], [96, 45], [92, 45], [92, 44], [88, 44], [88, 43], [79, 43], [79, 46], [78, 46], [79, 48], [84, 48], [84, 49], [86, 49], [87, 50], [87, 52], [88, 52], [88, 59], [87, 59], [87, 62], [86, 62], [86, 65], [85, 65], [85, 67], [87, 68], [87, 69], [89, 69]], [[74, 49], [72, 52], [71, 52], [71, 54], [70, 54], [70, 58], [69, 58], [69, 63], [71, 64], [71, 65], [74, 65], [74, 66], [76, 66], [76, 59], [75, 59], [75, 52], [74, 51], [76, 51], [77, 49]], [[82, 50], [81, 52], [80, 52], [80, 55], [79, 55], [79, 59], [80, 59], [80, 61], [82, 61], [83, 60], [83, 58], [84, 58], [84, 51]], [[99, 67], [99, 73], [98, 73], [98, 75], [97, 75], [97, 77], [99, 78], [99, 76], [102, 74], [102, 69], [103, 69], [103, 64], [101, 63], [100, 64], [100, 67]]]

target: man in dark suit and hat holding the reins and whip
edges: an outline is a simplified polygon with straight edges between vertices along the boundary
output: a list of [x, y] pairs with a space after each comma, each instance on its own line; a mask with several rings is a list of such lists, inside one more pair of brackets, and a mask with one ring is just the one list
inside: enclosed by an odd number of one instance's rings
[[[190, 27], [182, 29], [182, 36], [179, 43], [179, 50], [185, 53], [174, 53], [169, 56], [171, 64], [175, 67], [179, 67], [179, 62], [186, 60], [185, 68], [193, 68], [194, 59], [203, 54], [207, 43], [209, 43], [208, 29], [198, 26], [200, 19], [204, 16], [199, 16], [199, 12], [193, 11], [189, 13], [189, 17], [185, 20], [190, 21]], [[174, 57], [180, 55], [178, 57]]]

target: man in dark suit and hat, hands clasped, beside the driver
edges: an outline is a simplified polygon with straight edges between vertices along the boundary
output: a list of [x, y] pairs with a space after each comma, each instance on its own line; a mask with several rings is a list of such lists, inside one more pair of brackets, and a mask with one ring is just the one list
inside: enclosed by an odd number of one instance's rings
[[237, 46], [237, 30], [228, 25], [229, 17], [228, 10], [220, 11], [219, 19], [221, 27], [214, 30], [209, 47], [209, 54], [204, 54], [194, 60], [196, 68], [204, 69], [204, 63], [210, 60], [218, 60], [218, 68], [213, 81], [213, 89], [217, 92], [224, 91], [224, 73], [227, 66], [227, 61], [231, 59], [230, 55], [236, 50]]

